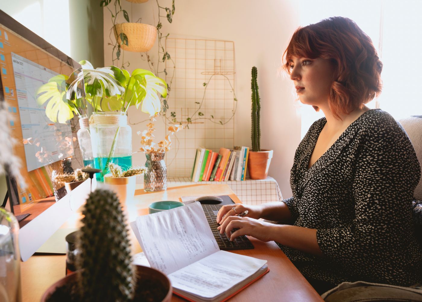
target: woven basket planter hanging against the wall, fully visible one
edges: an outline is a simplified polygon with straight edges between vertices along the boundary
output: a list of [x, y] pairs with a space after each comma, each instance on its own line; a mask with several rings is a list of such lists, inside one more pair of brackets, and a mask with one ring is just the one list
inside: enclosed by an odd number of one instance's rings
[[[157, 37], [157, 28], [143, 23], [120, 23], [114, 26], [114, 37], [122, 49], [132, 52], [146, 52], [152, 48]], [[120, 33], [127, 36], [128, 45], [123, 44]]]

